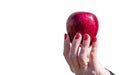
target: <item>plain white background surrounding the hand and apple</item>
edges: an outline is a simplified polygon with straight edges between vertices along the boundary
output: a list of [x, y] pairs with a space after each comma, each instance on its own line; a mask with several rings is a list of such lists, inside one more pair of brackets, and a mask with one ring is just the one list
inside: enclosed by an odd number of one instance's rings
[[0, 75], [74, 75], [63, 57], [66, 20], [99, 20], [99, 61], [120, 75], [119, 0], [0, 0]]

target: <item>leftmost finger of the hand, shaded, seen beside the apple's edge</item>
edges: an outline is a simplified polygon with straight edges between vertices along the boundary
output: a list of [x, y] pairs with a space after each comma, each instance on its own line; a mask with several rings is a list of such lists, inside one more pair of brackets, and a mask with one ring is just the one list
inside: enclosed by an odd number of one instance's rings
[[71, 60], [69, 58], [69, 52], [70, 52], [69, 36], [67, 34], [64, 34], [64, 51], [63, 51], [63, 55], [64, 55], [68, 65], [70, 66], [71, 71], [74, 72], [73, 65], [72, 65]]

